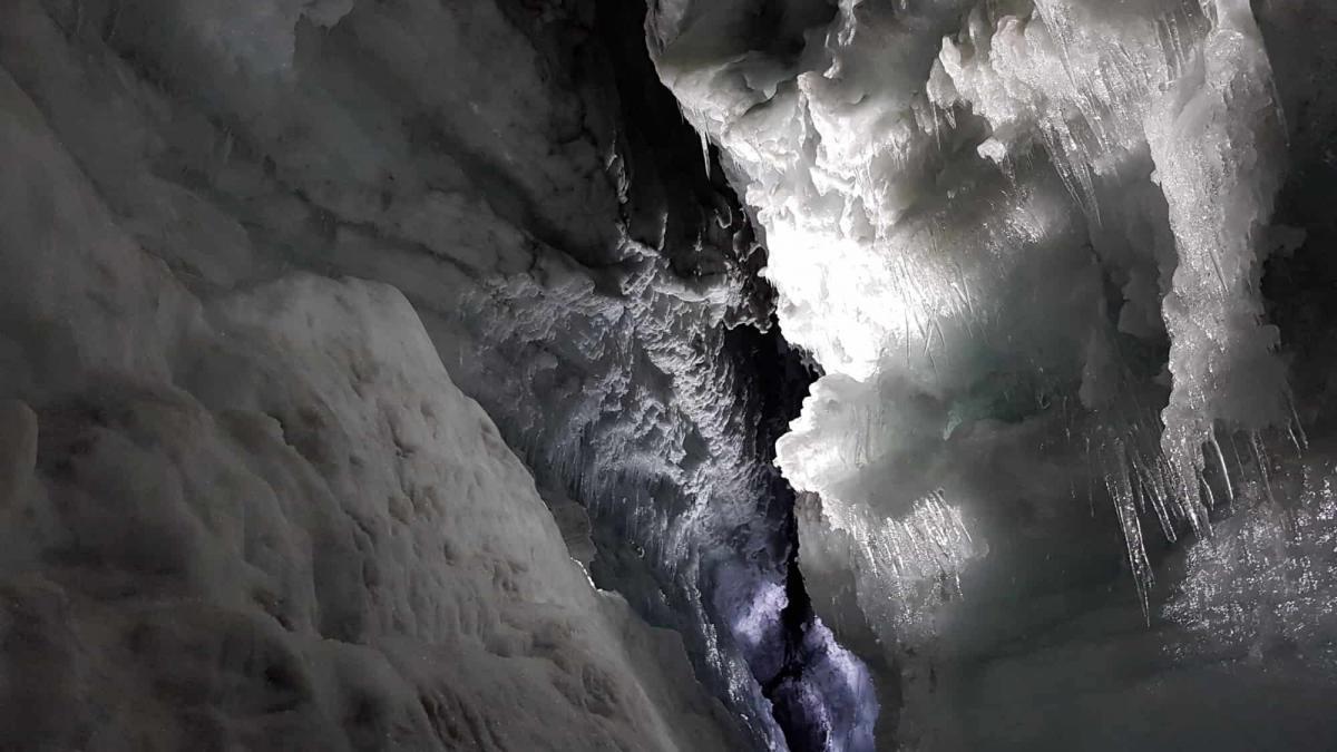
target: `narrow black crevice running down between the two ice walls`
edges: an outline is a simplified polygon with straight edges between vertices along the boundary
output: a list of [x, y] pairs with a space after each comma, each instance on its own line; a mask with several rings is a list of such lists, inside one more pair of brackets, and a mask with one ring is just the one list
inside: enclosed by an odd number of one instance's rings
[[[816, 13], [832, 12], [826, 3], [810, 5], [805, 8]], [[833, 660], [842, 649], [813, 609], [800, 571], [796, 492], [773, 467], [777, 439], [798, 416], [821, 373], [806, 353], [785, 341], [773, 313], [775, 292], [761, 277], [766, 264], [761, 233], [729, 185], [718, 151], [710, 147], [702, 153], [701, 135], [659, 82], [644, 20], [644, 3], [596, 0], [594, 37], [610, 64], [586, 71], [592, 79], [611, 78], [618, 92], [614, 138], [620, 159], [615, 169], [626, 177], [622, 221], [632, 240], [662, 254], [682, 280], [730, 274], [742, 282], [743, 310], [727, 324], [719, 357], [733, 364], [734, 399], [746, 405], [754, 426], [750, 454], [757, 467], [766, 468], [755, 516], [733, 537], [738, 550], [730, 557], [741, 555], [746, 562], [723, 557], [705, 577], [703, 590], [715, 591], [707, 593], [714, 617], [729, 625], [739, 609], [757, 607], [746, 598], [759, 597], [735, 591], [738, 567], [755, 566], [782, 579], [785, 605], [778, 614], [766, 614], [766, 636], [758, 645], [739, 646], [792, 751], [845, 748], [852, 719], [866, 717], [853, 705], [870, 701], [872, 693], [830, 689]], [[781, 21], [787, 28], [806, 25], [810, 19], [786, 16], [777, 19]], [[766, 533], [758, 539], [762, 529]], [[595, 562], [596, 579], [603, 566], [607, 563]]]

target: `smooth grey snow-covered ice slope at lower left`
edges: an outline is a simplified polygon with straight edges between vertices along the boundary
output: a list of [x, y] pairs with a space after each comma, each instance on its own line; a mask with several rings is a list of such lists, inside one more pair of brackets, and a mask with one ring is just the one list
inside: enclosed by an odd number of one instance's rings
[[381, 284], [197, 296], [0, 71], [0, 749], [737, 749]]

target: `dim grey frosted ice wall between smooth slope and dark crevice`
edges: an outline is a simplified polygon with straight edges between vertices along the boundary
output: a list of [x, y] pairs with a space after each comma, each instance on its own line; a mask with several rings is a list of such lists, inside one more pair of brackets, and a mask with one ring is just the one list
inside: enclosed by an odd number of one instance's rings
[[790, 491], [758, 395], [785, 403], [806, 375], [759, 333], [751, 222], [648, 86], [643, 21], [616, 0], [16, 0], [0, 68], [127, 242], [201, 300], [294, 272], [401, 290], [571, 554], [682, 634], [746, 745], [783, 748], [769, 650], [864, 681], [769, 597]]

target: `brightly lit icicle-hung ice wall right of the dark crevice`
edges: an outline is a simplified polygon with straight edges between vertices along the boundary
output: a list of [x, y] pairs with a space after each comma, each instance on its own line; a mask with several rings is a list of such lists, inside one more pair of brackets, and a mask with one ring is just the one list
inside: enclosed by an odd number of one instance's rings
[[778, 464], [881, 744], [1332, 739], [1302, 198], [1330, 195], [1332, 29], [1300, 0], [658, 5], [660, 78], [825, 371]]

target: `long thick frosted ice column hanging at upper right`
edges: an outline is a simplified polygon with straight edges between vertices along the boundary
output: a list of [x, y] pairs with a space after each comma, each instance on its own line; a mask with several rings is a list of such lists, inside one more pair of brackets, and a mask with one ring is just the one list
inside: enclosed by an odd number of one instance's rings
[[1147, 115], [1178, 261], [1163, 304], [1174, 381], [1162, 450], [1198, 533], [1207, 526], [1205, 450], [1226, 467], [1217, 430], [1246, 432], [1259, 447], [1258, 432], [1290, 417], [1278, 331], [1263, 322], [1259, 289], [1285, 123], [1247, 3], [1203, 9], [1211, 31], [1201, 52]]

